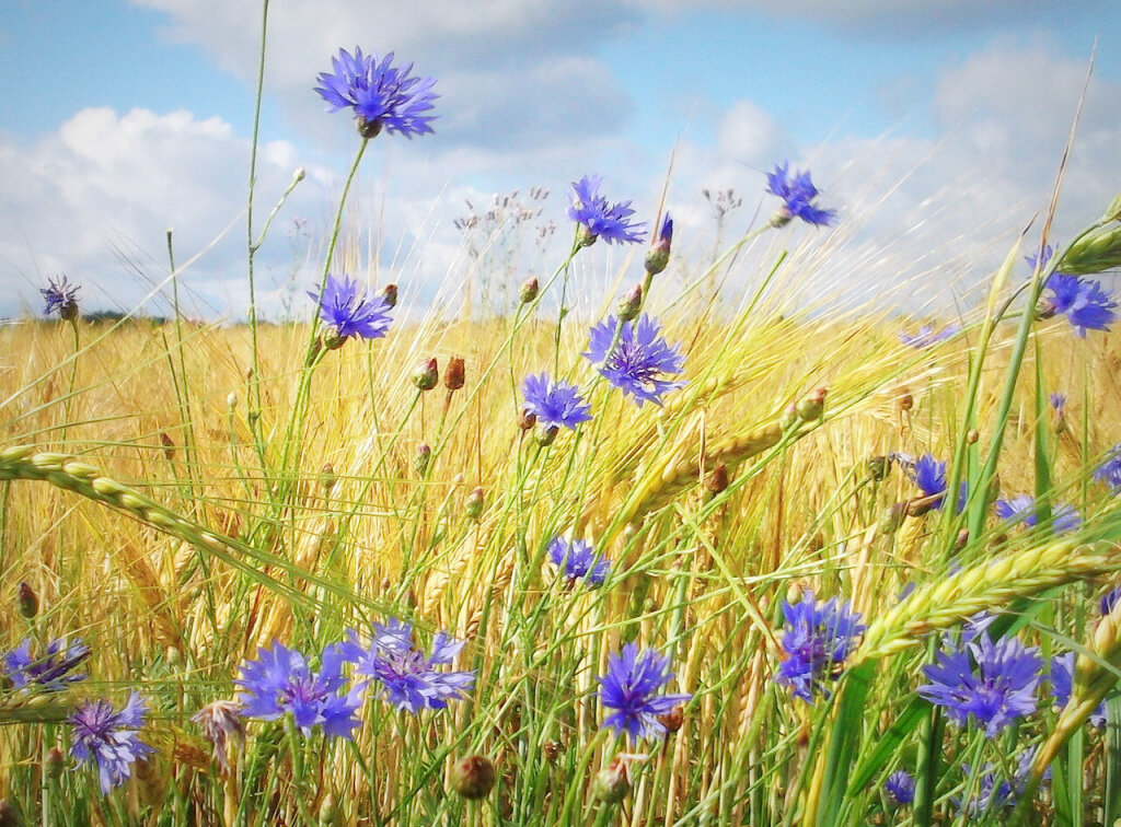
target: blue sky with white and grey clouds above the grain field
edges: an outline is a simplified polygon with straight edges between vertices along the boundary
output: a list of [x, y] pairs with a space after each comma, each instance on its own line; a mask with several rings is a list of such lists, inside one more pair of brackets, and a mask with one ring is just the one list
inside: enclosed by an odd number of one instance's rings
[[[520, 278], [556, 261], [571, 238], [567, 189], [587, 174], [651, 223], [665, 193], [675, 249], [697, 261], [766, 220], [765, 173], [789, 160], [840, 213], [832, 230], [782, 231], [784, 244], [828, 249], [816, 260], [823, 291], [961, 308], [1016, 235], [1041, 224], [1092, 54], [1055, 238], [1121, 191], [1119, 7], [272, 0], [258, 229], [295, 170], [306, 177], [260, 247], [260, 306], [300, 317], [322, 276], [359, 138], [313, 87], [340, 47], [361, 46], [438, 78], [439, 119], [434, 134], [371, 142], [333, 270], [396, 281], [416, 305], [462, 301], [465, 278], [491, 279], [473, 286], [475, 300], [499, 296], [495, 269]], [[83, 285], [86, 309], [166, 313], [169, 229], [184, 310], [244, 317], [261, 30], [251, 0], [7, 0], [0, 317], [38, 314], [38, 289], [62, 273]], [[702, 193], [728, 188], [742, 203], [717, 239]], [[500, 260], [503, 244], [456, 226], [512, 191], [500, 214], [528, 208], [507, 242], [516, 267]], [[628, 267], [637, 277], [638, 259], [604, 247], [589, 251], [591, 281]], [[472, 269], [480, 249], [491, 258]], [[881, 289], [905, 284], [902, 297]]]

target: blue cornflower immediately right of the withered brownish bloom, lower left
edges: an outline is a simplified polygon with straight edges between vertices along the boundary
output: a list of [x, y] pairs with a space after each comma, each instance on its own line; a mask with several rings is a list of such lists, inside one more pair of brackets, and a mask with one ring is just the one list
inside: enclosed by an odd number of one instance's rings
[[257, 660], [241, 665], [241, 679], [233, 681], [242, 691], [240, 715], [245, 718], [276, 721], [290, 713], [304, 735], [322, 726], [327, 737], [352, 737], [359, 725], [354, 710], [362, 703], [364, 685], [346, 694], [342, 667], [346, 659], [334, 643], [323, 650], [319, 671], [313, 672], [307, 658], [282, 643], [258, 649]]

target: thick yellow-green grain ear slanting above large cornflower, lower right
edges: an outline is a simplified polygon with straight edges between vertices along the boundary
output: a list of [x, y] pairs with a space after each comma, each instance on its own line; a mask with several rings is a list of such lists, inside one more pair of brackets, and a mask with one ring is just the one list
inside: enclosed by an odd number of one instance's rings
[[853, 665], [916, 647], [930, 632], [949, 629], [982, 611], [1019, 597], [1121, 568], [1121, 548], [1074, 540], [1007, 554], [920, 586], [868, 628]]

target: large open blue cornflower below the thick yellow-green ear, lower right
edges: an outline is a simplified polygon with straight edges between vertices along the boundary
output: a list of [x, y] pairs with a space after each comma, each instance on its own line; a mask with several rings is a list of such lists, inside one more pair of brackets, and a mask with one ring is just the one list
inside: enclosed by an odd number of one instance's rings
[[946, 707], [962, 726], [972, 715], [993, 737], [1036, 710], [1041, 669], [1035, 647], [1025, 647], [1018, 638], [993, 643], [985, 633], [962, 649], [938, 652], [934, 665], [923, 667], [932, 682], [920, 686], [918, 694]]

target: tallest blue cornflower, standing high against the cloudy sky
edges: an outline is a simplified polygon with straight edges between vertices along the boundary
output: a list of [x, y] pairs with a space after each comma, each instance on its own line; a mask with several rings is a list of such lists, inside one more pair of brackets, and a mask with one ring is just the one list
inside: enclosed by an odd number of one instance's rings
[[392, 52], [379, 63], [377, 55], [363, 55], [360, 48], [353, 55], [340, 49], [339, 57], [331, 58], [334, 72], [319, 73], [315, 91], [331, 112], [353, 109], [363, 138], [374, 138], [382, 129], [409, 139], [432, 132], [428, 124], [436, 117], [425, 113], [438, 97], [432, 91], [436, 80], [411, 77], [411, 63], [393, 66], [392, 62]]

